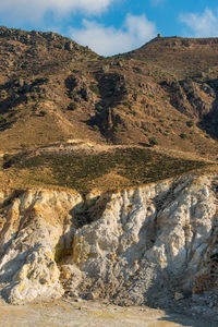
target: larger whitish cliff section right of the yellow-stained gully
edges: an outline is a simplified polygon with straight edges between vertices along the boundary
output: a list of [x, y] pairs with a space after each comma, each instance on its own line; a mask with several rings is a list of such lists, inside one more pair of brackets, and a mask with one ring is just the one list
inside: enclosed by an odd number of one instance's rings
[[99, 220], [76, 230], [72, 261], [90, 289], [98, 279], [104, 288], [111, 284], [109, 292], [117, 283], [110, 296], [118, 301], [143, 304], [178, 284], [193, 290], [205, 269], [201, 258], [210, 251], [215, 214], [205, 177], [123, 191], [113, 194]]

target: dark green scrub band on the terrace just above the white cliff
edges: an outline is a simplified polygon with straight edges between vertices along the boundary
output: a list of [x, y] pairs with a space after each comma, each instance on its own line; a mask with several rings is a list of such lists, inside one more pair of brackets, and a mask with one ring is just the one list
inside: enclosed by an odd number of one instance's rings
[[[32, 171], [34, 183], [76, 189], [86, 193], [93, 187], [106, 187], [104, 175], [116, 171], [121, 186], [150, 183], [204, 167], [203, 161], [170, 158], [150, 149], [126, 148], [97, 155], [36, 155], [5, 157], [4, 167]], [[48, 171], [43, 174], [44, 169]], [[102, 178], [102, 181], [99, 181]]]

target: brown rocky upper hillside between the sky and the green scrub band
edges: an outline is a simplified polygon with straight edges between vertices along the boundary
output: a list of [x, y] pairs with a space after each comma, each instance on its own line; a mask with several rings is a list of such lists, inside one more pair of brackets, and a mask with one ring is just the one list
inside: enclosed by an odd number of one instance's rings
[[0, 27], [0, 149], [80, 138], [216, 159], [217, 52], [216, 38], [160, 37], [102, 58], [55, 33]]

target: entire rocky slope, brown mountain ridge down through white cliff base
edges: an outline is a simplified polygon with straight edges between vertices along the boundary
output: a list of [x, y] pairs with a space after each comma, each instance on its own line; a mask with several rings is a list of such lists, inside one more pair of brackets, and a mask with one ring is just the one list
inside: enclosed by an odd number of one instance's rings
[[157, 37], [102, 58], [0, 27], [2, 301], [216, 326], [217, 55], [217, 38]]

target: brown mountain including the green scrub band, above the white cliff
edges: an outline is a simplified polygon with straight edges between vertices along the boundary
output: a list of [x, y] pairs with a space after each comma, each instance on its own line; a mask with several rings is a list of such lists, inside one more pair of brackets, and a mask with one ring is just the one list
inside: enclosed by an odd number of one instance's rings
[[157, 37], [104, 58], [0, 27], [2, 185], [119, 189], [216, 160], [217, 51], [217, 38]]

